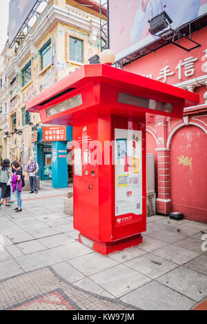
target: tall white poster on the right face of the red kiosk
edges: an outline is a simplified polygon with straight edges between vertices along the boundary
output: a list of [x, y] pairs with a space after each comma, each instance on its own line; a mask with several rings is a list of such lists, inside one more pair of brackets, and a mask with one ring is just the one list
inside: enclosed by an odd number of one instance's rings
[[141, 131], [115, 128], [115, 143], [115, 216], [124, 225], [142, 214]]

